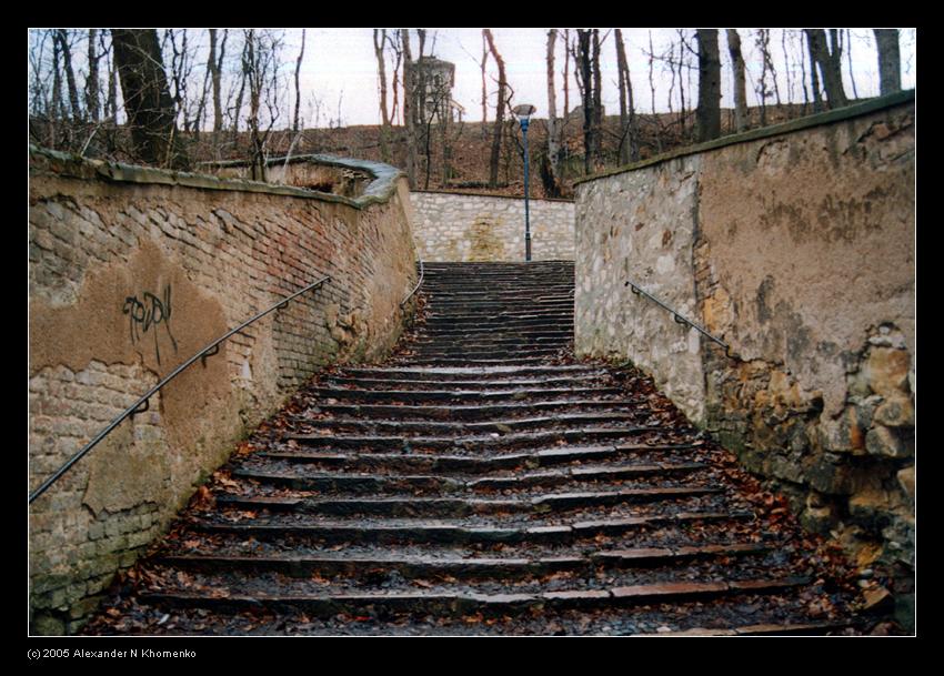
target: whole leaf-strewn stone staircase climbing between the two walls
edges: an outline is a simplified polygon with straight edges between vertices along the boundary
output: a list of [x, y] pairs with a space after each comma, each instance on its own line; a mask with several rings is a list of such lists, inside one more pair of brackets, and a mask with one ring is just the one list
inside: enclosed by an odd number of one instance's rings
[[780, 503], [570, 355], [572, 263], [429, 264], [423, 293], [414, 340], [300, 392], [87, 633], [855, 630]]

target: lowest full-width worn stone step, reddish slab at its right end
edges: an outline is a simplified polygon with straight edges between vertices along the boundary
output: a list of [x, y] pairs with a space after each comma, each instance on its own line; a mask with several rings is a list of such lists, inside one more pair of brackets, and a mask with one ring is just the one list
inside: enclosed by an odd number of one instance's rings
[[220, 612], [242, 613], [252, 609], [303, 611], [317, 617], [341, 613], [381, 609], [399, 614], [471, 615], [483, 613], [518, 614], [565, 608], [600, 608], [651, 603], [671, 603], [694, 598], [716, 598], [737, 594], [774, 594], [810, 583], [805, 577], [751, 579], [744, 582], [677, 582], [634, 585], [605, 589], [555, 591], [538, 594], [475, 594], [448, 587], [426, 592], [364, 594], [232, 594], [151, 592], [142, 594], [144, 603], [164, 607], [202, 607]]

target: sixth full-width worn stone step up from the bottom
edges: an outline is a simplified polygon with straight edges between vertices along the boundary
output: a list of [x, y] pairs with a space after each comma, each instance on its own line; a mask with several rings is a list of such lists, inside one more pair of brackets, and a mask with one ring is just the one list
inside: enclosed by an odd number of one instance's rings
[[559, 446], [524, 453], [492, 455], [433, 455], [404, 453], [303, 453], [262, 452], [260, 457], [290, 463], [318, 464], [364, 471], [430, 471], [488, 473], [519, 467], [550, 467], [569, 463], [605, 461], [624, 455], [660, 455], [699, 447], [695, 444], [625, 444], [615, 446]]

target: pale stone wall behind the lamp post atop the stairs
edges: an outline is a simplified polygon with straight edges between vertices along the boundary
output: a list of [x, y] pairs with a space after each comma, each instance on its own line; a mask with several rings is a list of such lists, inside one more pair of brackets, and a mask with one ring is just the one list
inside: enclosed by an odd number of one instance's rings
[[[523, 261], [524, 199], [412, 192], [413, 233], [424, 261]], [[530, 200], [531, 258], [572, 261], [574, 204]]]

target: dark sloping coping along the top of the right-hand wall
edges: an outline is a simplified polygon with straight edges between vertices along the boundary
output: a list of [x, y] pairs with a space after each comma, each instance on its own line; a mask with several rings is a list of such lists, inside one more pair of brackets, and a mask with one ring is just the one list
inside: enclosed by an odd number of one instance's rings
[[779, 137], [782, 134], [802, 131], [812, 127], [822, 127], [825, 124], [832, 124], [834, 122], [841, 122], [843, 120], [850, 120], [852, 118], [858, 118], [880, 110], [885, 110], [887, 108], [894, 108], [904, 103], [912, 103], [914, 102], [914, 100], [915, 91], [913, 89], [895, 92], [894, 94], [887, 94], [885, 97], [876, 97], [874, 99], [865, 101], [864, 103], [856, 103], [854, 105], [847, 105], [845, 108], [827, 110], [826, 112], [815, 113], [812, 115], [806, 115], [804, 118], [797, 118], [796, 120], [790, 120], [789, 122], [783, 122], [781, 124], [772, 124], [770, 127], [752, 129], [751, 131], [745, 131], [740, 134], [731, 134], [727, 137], [722, 137], [720, 139], [707, 141], [705, 143], [689, 145], [680, 150], [662, 153], [647, 160], [643, 160], [642, 162], [624, 164], [623, 167], [617, 167], [616, 169], [611, 169], [610, 171], [603, 171], [596, 174], [585, 176], [583, 179], [578, 179], [576, 181], [574, 181], [574, 186], [582, 185], [583, 183], [589, 183], [591, 181], [596, 181], [600, 179], [606, 179], [621, 173], [627, 173], [631, 171], [645, 169], [647, 167], [652, 167], [653, 164], [661, 164], [662, 162], [667, 162], [669, 160], [694, 155], [702, 152], [707, 152], [710, 150], [717, 150], [727, 145], [747, 143], [750, 141], [757, 141], [760, 139], [767, 139], [770, 137]]

